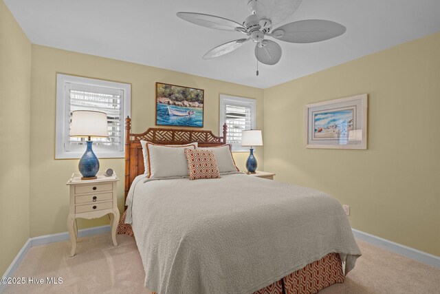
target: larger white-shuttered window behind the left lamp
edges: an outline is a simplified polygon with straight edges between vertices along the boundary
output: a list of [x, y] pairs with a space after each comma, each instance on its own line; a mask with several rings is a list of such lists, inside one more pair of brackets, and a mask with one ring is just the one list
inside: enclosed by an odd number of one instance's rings
[[87, 138], [70, 137], [72, 112], [95, 110], [107, 114], [109, 138], [92, 138], [98, 158], [124, 157], [124, 118], [130, 115], [131, 85], [79, 76], [56, 75], [55, 158], [80, 158]]

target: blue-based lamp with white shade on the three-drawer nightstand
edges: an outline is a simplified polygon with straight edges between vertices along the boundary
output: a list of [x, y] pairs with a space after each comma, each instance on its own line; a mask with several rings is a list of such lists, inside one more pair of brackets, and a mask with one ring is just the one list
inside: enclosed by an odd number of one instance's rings
[[81, 180], [93, 180], [99, 171], [99, 160], [91, 149], [90, 138], [107, 138], [109, 129], [107, 127], [107, 114], [91, 110], [76, 110], [72, 112], [72, 124], [70, 126], [71, 137], [88, 138], [87, 149], [81, 157], [78, 169], [83, 176]]

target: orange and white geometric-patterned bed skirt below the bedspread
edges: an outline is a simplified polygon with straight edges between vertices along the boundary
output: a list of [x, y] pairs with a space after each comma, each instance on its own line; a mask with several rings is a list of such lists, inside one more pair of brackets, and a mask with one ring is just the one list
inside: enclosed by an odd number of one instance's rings
[[[118, 225], [118, 234], [133, 236], [129, 224], [124, 224], [125, 212], [122, 214]], [[282, 280], [274, 282], [253, 294], [283, 294], [283, 284], [286, 294], [312, 294], [318, 293], [323, 288], [332, 284], [343, 283], [344, 273], [342, 262], [338, 253], [329, 253], [320, 260], [307, 264], [303, 269], [298, 269]], [[149, 294], [157, 294], [150, 292]]]

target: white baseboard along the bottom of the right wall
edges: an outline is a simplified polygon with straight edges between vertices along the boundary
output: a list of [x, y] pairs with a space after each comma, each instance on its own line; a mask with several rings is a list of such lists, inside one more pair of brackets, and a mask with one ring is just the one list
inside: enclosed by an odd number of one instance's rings
[[357, 229], [351, 229], [353, 231], [353, 235], [355, 238], [373, 244], [375, 246], [381, 247], [388, 251], [404, 255], [407, 258], [411, 258], [413, 260], [417, 260], [419, 262], [423, 262], [424, 264], [429, 264], [431, 266], [435, 266], [440, 268], [440, 257], [436, 255], [432, 255], [423, 251], [419, 251], [417, 249], [386, 240], [384, 238], [377, 237], [375, 235], [371, 235], [369, 233], [364, 233]]

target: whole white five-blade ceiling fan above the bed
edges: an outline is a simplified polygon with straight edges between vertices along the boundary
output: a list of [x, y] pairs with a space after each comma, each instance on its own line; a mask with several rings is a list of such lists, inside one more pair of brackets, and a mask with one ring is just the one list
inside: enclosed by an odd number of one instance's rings
[[[301, 2], [302, 0], [250, 0], [248, 8], [252, 14], [246, 17], [242, 24], [223, 17], [196, 12], [177, 12], [177, 17], [204, 27], [241, 32], [247, 35], [245, 38], [213, 48], [203, 55], [203, 59], [212, 59], [227, 54], [251, 40], [256, 43], [255, 56], [257, 61], [274, 65], [280, 61], [282, 50], [276, 42], [265, 39], [266, 36], [290, 43], [314, 43], [335, 38], [347, 30], [340, 23], [321, 19], [294, 21], [278, 28], [272, 28], [276, 23], [281, 23], [292, 15]], [[259, 75], [258, 62], [256, 75]]]

